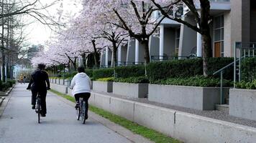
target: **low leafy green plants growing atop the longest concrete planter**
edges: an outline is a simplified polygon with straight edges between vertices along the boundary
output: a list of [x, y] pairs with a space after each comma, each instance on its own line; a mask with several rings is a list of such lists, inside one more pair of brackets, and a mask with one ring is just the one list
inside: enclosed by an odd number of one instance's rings
[[[196, 77], [178, 77], [165, 80], [150, 81], [151, 84], [168, 84], [168, 85], [180, 85], [180, 86], [193, 86], [193, 87], [220, 87], [220, 79], [209, 78], [204, 76]], [[232, 87], [232, 82], [229, 80], [223, 81], [223, 87]]]

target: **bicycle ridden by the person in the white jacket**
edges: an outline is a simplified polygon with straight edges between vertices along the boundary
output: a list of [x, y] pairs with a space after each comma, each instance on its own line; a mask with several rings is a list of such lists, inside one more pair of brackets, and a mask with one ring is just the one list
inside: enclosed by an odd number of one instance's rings
[[83, 124], [86, 124], [86, 102], [84, 101], [83, 97], [79, 98], [79, 107], [76, 108], [76, 119], [80, 119], [82, 117]]

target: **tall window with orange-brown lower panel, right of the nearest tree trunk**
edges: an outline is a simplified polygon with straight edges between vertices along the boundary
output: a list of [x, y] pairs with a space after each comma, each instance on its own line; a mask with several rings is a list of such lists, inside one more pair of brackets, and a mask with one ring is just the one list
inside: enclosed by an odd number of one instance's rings
[[224, 16], [214, 18], [214, 56], [224, 56]]

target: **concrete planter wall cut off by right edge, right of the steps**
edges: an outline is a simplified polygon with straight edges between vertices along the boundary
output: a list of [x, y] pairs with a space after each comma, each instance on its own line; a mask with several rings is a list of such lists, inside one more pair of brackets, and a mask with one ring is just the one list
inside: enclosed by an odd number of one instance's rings
[[229, 114], [256, 121], [256, 90], [230, 89]]

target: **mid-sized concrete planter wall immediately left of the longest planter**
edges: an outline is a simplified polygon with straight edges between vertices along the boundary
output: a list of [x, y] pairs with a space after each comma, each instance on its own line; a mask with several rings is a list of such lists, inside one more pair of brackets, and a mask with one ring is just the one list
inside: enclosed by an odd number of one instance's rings
[[113, 82], [113, 94], [119, 94], [125, 97], [145, 98], [148, 94], [148, 84]]

